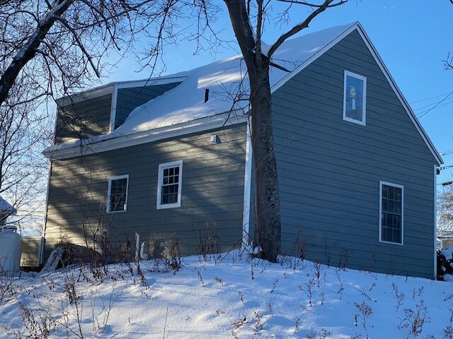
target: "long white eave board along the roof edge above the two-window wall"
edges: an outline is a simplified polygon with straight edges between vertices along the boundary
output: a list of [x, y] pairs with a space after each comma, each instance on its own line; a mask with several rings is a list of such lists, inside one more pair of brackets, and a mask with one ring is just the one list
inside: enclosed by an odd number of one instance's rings
[[[243, 114], [243, 111], [240, 112]], [[71, 144], [61, 143], [47, 148], [42, 154], [51, 160], [62, 160], [69, 157], [101, 153], [142, 143], [151, 143], [153, 141], [208, 131], [210, 129], [220, 129], [224, 126], [241, 124], [247, 121], [247, 117], [245, 115], [239, 115], [238, 112], [236, 112], [236, 114], [217, 114], [212, 117], [196, 119], [183, 124], [151, 129], [149, 131], [127, 134], [125, 136], [116, 136], [108, 139], [101, 138], [101, 140], [85, 139], [82, 141], [82, 145], [80, 144], [80, 141]]]

